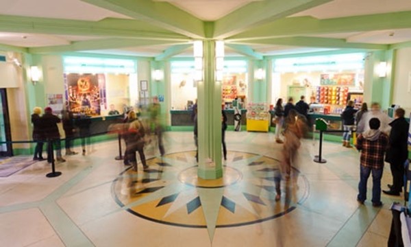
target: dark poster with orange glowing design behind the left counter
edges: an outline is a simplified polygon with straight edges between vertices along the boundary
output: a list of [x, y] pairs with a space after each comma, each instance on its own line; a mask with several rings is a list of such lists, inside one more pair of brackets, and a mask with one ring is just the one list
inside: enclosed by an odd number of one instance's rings
[[69, 73], [64, 75], [66, 101], [73, 113], [100, 115], [101, 93], [105, 95], [104, 74]]

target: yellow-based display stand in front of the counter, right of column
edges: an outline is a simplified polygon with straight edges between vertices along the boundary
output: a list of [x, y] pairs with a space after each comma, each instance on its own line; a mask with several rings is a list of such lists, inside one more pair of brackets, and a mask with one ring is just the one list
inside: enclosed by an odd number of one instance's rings
[[247, 105], [247, 131], [269, 132], [269, 106], [265, 103]]

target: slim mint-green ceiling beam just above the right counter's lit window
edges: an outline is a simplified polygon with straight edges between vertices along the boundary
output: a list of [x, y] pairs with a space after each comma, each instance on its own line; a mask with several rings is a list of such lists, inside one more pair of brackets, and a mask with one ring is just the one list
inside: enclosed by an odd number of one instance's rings
[[368, 43], [347, 43], [340, 38], [314, 38], [314, 37], [289, 37], [267, 38], [261, 40], [248, 40], [244, 45], [286, 45], [295, 47], [321, 47], [321, 48], [348, 48], [348, 49], [388, 49], [388, 45], [375, 45]]

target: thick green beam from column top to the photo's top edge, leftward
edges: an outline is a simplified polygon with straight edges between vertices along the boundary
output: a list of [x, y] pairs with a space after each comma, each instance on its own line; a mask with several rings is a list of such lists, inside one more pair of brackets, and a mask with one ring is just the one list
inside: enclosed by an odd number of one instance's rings
[[171, 3], [152, 0], [82, 0], [190, 38], [203, 38], [203, 21]]

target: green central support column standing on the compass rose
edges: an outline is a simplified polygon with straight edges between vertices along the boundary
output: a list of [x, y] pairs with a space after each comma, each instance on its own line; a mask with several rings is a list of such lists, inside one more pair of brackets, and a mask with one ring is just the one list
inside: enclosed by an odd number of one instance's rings
[[223, 176], [221, 157], [221, 82], [215, 79], [214, 40], [203, 41], [203, 82], [198, 83], [198, 176], [217, 179]]

